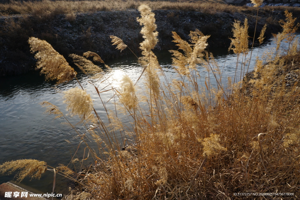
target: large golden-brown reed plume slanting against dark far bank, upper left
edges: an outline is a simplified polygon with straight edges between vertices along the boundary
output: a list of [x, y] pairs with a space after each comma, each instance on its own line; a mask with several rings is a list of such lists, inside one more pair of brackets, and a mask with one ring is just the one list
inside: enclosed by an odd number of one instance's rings
[[72, 80], [76, 72], [69, 66], [66, 59], [55, 51], [45, 40], [30, 37], [28, 40], [30, 50], [35, 53], [37, 69], [41, 69], [41, 74], [45, 74], [47, 81], [57, 80], [56, 84]]

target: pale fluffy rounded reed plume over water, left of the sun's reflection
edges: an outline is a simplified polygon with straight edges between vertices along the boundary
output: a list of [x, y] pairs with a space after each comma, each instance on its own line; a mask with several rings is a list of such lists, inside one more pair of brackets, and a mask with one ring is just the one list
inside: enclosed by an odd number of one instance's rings
[[93, 102], [91, 96], [78, 87], [64, 92], [64, 103], [71, 116], [78, 115], [82, 120], [91, 119]]

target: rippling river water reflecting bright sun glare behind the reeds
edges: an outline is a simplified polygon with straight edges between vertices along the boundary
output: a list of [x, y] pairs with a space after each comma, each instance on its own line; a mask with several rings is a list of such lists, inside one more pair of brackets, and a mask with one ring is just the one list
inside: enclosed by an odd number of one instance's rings
[[[253, 70], [257, 51], [263, 52], [274, 47], [274, 42], [269, 40], [260, 47], [255, 47], [252, 54], [252, 61], [249, 71]], [[234, 77], [236, 55], [227, 55], [227, 49], [211, 49], [215, 60], [223, 69], [223, 83], [227, 77]], [[169, 52], [158, 52], [158, 60], [165, 71], [167, 77], [176, 76], [174, 69], [171, 66], [171, 55]], [[118, 87], [118, 81], [124, 74], [127, 74], [132, 80], [136, 81], [142, 72], [142, 67], [138, 64], [137, 58], [134, 56], [126, 56], [119, 59], [114, 59], [107, 62], [111, 66], [110, 72], [105, 72], [104, 76], [112, 76], [109, 79], [114, 87]], [[201, 76], [201, 83], [204, 84], [205, 77], [208, 73], [201, 66], [198, 67]], [[106, 119], [106, 113], [102, 103], [99, 102], [98, 96], [93, 93], [95, 89], [88, 83], [89, 77], [80, 74], [79, 81], [91, 94], [92, 99], [95, 99], [95, 109], [98, 111], [102, 119]], [[213, 80], [213, 79], [212, 79]], [[99, 88], [105, 87], [100, 84], [101, 81], [95, 83], [100, 85]], [[211, 82], [216, 86], [215, 82]], [[139, 81], [140, 87], [143, 87], [143, 78]], [[70, 81], [67, 84], [58, 85], [55, 89], [54, 83], [44, 81], [44, 77], [38, 72], [28, 73], [13, 77], [1, 77], [0, 79], [0, 163], [17, 159], [36, 159], [45, 161], [49, 166], [57, 167], [59, 163], [67, 165], [72, 157], [74, 149], [77, 148], [79, 139], [77, 134], [70, 126], [62, 124], [64, 119], [53, 119], [53, 116], [43, 114], [45, 108], [39, 104], [42, 101], [49, 101], [57, 105], [63, 113], [65, 104], [62, 102], [61, 91], [77, 87], [76, 81]], [[108, 101], [113, 96], [112, 92], [101, 93], [103, 101]], [[107, 103], [107, 108], [114, 110], [112, 103]], [[78, 118], [67, 118], [73, 123], [78, 122]], [[105, 121], [105, 120], [104, 120]], [[126, 123], [126, 120], [125, 120]], [[84, 131], [84, 128], [79, 124], [76, 129]], [[118, 136], [121, 140], [121, 136]], [[66, 142], [70, 141], [70, 143]], [[83, 155], [84, 145], [79, 148], [79, 158]], [[84, 164], [89, 164], [91, 161], [86, 161]], [[0, 184], [13, 179], [13, 175], [0, 175]], [[53, 174], [46, 172], [40, 180], [24, 179], [23, 184], [40, 190], [44, 193], [52, 192]], [[55, 193], [66, 193], [71, 182], [67, 179], [57, 176]]]

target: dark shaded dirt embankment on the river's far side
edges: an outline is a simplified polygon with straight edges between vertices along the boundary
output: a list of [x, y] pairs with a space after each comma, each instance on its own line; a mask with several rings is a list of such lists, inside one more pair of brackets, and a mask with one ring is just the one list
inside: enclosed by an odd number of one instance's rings
[[[256, 20], [256, 13], [251, 11], [214, 15], [179, 10], [155, 10], [154, 13], [159, 32], [156, 50], [176, 48], [172, 42], [172, 31], [176, 31], [182, 39], [189, 40], [188, 34], [195, 29], [211, 35], [209, 46], [228, 47], [235, 19], [243, 21], [248, 18], [249, 35], [254, 33]], [[46, 40], [69, 62], [71, 60], [68, 55], [72, 53], [81, 55], [86, 51], [94, 51], [107, 60], [130, 52], [128, 49], [122, 53], [116, 50], [111, 45], [110, 35], [121, 38], [133, 51], [139, 53], [139, 43], [143, 38], [137, 17], [139, 12], [136, 9], [56, 15], [49, 18], [30, 15], [1, 16], [0, 76], [26, 73], [34, 69], [35, 60], [27, 43], [32, 36]], [[283, 11], [260, 13], [257, 30], [260, 31], [267, 23], [266, 33], [270, 36], [279, 30], [276, 21], [283, 18]]]

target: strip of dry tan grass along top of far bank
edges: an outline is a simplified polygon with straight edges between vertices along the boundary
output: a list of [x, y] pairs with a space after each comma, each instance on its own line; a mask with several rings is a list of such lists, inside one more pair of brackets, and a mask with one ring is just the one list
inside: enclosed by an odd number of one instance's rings
[[10, 1], [0, 4], [0, 14], [32, 14], [33, 16], [55, 16], [58, 14], [94, 13], [97, 11], [137, 9], [140, 4], [148, 4], [152, 10], [202, 11], [204, 13], [235, 12], [237, 7], [223, 4], [220, 0], [190, 1]]

